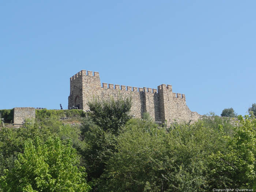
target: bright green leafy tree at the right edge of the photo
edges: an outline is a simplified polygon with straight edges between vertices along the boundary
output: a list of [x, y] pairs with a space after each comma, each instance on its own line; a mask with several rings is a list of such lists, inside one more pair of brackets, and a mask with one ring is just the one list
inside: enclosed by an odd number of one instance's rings
[[225, 151], [210, 156], [209, 169], [211, 187], [253, 188], [256, 190], [256, 119], [238, 116], [240, 126], [233, 138], [224, 136], [229, 142]]

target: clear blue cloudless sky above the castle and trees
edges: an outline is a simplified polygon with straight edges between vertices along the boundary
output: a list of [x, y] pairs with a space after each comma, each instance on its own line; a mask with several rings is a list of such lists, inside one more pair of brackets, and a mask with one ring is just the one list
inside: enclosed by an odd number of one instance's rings
[[157, 89], [192, 111], [256, 102], [256, 1], [0, 2], [0, 109], [68, 106], [69, 78]]

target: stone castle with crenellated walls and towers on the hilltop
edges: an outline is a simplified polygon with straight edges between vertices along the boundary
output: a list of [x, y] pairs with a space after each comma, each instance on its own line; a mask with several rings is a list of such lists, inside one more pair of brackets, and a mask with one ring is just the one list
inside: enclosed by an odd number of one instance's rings
[[68, 97], [68, 108], [73, 106], [78, 109], [89, 110], [87, 105], [93, 97], [100, 99], [114, 99], [118, 95], [132, 98], [131, 115], [142, 118], [147, 112], [155, 121], [167, 122], [167, 125], [177, 122], [196, 121], [200, 115], [191, 112], [186, 105], [185, 94], [173, 93], [172, 86], [161, 84], [157, 89], [139, 88], [102, 83], [99, 73], [82, 70], [70, 78], [70, 95]]

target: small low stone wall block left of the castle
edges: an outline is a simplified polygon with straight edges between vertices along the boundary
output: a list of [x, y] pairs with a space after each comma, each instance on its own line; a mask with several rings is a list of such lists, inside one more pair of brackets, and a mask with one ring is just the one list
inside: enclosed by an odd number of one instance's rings
[[14, 108], [13, 113], [14, 124], [23, 124], [26, 118], [35, 118], [35, 108]]

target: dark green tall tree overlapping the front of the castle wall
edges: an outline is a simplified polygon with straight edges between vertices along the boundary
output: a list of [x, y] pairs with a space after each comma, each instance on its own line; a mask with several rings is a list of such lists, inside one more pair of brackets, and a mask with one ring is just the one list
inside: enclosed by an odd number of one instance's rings
[[131, 118], [131, 98], [118, 96], [116, 100], [100, 100], [94, 98], [88, 103], [91, 114], [84, 118], [81, 126], [82, 138], [85, 143], [80, 153], [83, 156], [88, 173], [88, 181], [98, 190], [98, 178], [105, 169], [106, 161], [115, 152], [116, 136], [121, 127]]

